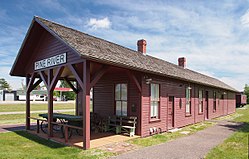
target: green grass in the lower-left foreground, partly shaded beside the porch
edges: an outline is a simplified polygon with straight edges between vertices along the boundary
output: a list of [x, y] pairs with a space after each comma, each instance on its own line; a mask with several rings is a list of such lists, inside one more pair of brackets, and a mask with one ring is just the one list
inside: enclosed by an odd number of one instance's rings
[[81, 150], [39, 138], [25, 131], [0, 134], [1, 159], [101, 159], [115, 155], [99, 149]]

